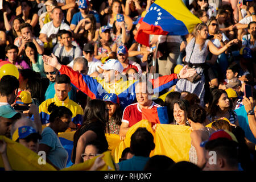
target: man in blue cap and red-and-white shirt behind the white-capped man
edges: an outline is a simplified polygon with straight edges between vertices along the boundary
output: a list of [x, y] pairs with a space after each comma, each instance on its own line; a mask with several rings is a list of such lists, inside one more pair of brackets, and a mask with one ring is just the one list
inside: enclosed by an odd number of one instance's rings
[[128, 69], [134, 68], [138, 72], [138, 75], [141, 76], [142, 74], [141, 66], [134, 61], [128, 60], [127, 57], [128, 57], [127, 48], [125, 46], [119, 46], [117, 48], [117, 59], [123, 66], [122, 74], [125, 74]]

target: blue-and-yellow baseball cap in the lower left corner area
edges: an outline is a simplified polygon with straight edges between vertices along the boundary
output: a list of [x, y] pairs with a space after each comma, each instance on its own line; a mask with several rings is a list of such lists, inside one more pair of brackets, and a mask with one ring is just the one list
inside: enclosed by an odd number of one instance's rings
[[31, 134], [37, 134], [38, 138], [39, 139], [41, 138], [41, 135], [38, 132], [36, 132], [36, 130], [34, 128], [32, 128], [31, 126], [19, 127], [18, 129], [16, 129], [14, 131], [12, 138], [13, 138], [13, 141], [16, 141], [17, 139], [27, 138]]

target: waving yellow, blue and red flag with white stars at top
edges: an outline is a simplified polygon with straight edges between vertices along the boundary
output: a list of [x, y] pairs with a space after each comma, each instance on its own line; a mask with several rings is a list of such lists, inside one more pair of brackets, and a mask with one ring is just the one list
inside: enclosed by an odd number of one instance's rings
[[182, 0], [156, 0], [144, 16], [135, 35], [138, 43], [149, 46], [149, 35], [187, 35], [201, 20], [193, 15]]

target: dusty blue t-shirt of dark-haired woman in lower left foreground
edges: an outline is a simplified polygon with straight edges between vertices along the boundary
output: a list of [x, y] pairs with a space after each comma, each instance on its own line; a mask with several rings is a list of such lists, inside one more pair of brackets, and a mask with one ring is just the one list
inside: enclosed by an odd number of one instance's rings
[[46, 127], [43, 130], [42, 140], [40, 140], [39, 143], [46, 144], [51, 147], [51, 150], [49, 150], [46, 157], [52, 164], [60, 169], [67, 166], [68, 152], [61, 145], [59, 137], [57, 137], [51, 127]]

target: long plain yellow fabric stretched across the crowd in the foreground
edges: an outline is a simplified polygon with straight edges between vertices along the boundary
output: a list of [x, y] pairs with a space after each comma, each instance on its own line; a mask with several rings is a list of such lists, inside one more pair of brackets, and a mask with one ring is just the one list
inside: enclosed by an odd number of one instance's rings
[[[190, 127], [156, 124], [156, 131], [154, 132], [152, 131], [151, 123], [147, 120], [142, 120], [136, 123], [134, 126], [130, 127], [124, 141], [121, 141], [119, 139], [119, 135], [106, 135], [110, 151], [104, 152], [105, 155], [102, 159], [105, 161], [106, 164], [99, 170], [115, 170], [114, 163], [118, 163], [119, 158], [121, 158], [122, 151], [126, 147], [130, 147], [131, 135], [138, 129], [138, 127], [146, 127], [146, 129], [150, 131], [150, 133], [152, 133], [152, 135], [154, 136], [155, 149], [151, 152], [150, 156], [166, 155], [175, 162], [179, 162], [182, 160], [188, 161], [188, 151], [191, 147], [191, 130], [189, 129]], [[59, 137], [63, 137], [65, 139], [73, 141], [74, 134], [75, 131], [59, 133]], [[28, 150], [28, 148], [22, 146], [17, 142], [13, 142], [13, 140], [0, 136], [0, 139], [2, 138], [5, 139], [7, 143], [7, 156], [11, 167], [14, 170], [55, 170], [55, 168], [53, 168], [48, 163], [46, 163], [45, 165], [38, 164], [38, 159], [40, 158], [40, 156], [37, 155], [35, 152]], [[92, 167], [96, 158], [88, 160], [84, 163], [74, 164], [73, 166], [64, 168], [63, 170], [88, 170], [90, 169], [90, 167]], [[2, 158], [0, 158], [0, 167], [3, 167]]]

